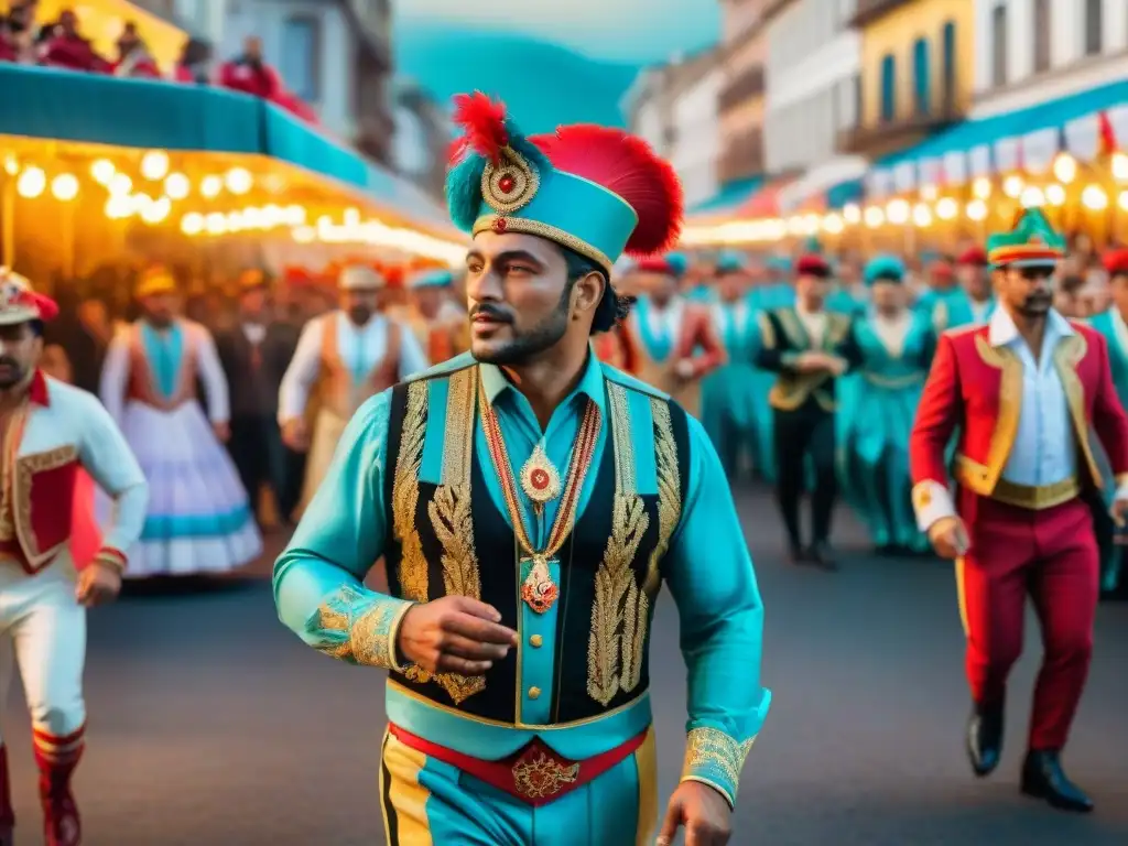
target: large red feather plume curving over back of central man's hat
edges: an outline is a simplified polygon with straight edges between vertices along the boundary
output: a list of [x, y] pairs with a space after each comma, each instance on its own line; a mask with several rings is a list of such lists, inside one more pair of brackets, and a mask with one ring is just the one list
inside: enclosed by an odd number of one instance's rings
[[592, 124], [561, 126], [529, 141], [553, 167], [602, 185], [638, 214], [626, 245], [632, 256], [662, 253], [681, 233], [684, 200], [678, 175], [645, 141], [623, 130]]

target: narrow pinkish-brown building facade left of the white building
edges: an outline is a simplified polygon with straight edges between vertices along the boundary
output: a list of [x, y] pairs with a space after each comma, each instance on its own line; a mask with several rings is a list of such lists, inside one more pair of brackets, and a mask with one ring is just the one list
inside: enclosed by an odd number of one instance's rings
[[717, 98], [722, 185], [764, 173], [765, 14], [773, 0], [721, 0], [721, 71]]

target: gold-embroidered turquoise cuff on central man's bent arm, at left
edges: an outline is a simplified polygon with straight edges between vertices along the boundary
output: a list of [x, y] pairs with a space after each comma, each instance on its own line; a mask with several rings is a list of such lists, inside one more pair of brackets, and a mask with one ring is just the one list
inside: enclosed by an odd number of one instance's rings
[[354, 664], [402, 671], [396, 663], [396, 638], [413, 605], [349, 584], [326, 597], [307, 625], [319, 652]]

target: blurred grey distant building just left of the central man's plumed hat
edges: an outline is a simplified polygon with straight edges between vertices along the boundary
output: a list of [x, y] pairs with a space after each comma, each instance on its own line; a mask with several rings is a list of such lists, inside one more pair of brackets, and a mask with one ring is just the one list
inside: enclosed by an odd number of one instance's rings
[[397, 81], [395, 104], [393, 164], [413, 185], [441, 202], [453, 138], [450, 116], [430, 94], [407, 80]]

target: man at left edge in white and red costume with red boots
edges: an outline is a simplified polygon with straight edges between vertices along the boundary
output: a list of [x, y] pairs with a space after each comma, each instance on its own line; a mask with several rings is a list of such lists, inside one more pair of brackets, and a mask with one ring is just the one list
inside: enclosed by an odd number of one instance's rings
[[[78, 846], [71, 777], [82, 756], [86, 608], [117, 596], [126, 553], [141, 534], [146, 481], [96, 397], [37, 369], [43, 324], [58, 309], [23, 276], [0, 268], [0, 661], [12, 650], [32, 714], [46, 846]], [[116, 509], [92, 559], [76, 572], [70, 541], [77, 478], [89, 473]], [[0, 667], [7, 694], [11, 667]], [[0, 844], [15, 813], [0, 740]]]

